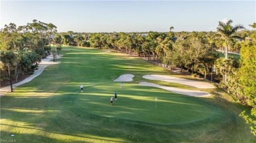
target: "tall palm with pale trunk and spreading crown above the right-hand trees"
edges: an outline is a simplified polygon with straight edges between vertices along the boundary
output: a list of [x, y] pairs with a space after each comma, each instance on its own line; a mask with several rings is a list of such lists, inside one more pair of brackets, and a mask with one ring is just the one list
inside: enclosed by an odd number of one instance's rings
[[224, 22], [219, 22], [219, 26], [217, 27], [217, 31], [222, 35], [225, 40], [226, 48], [225, 48], [225, 59], [228, 59], [228, 41], [230, 39], [241, 39], [241, 37], [235, 35], [236, 31], [240, 29], [245, 29], [242, 25], [235, 25], [234, 27], [231, 25], [233, 21], [228, 20], [226, 24]]

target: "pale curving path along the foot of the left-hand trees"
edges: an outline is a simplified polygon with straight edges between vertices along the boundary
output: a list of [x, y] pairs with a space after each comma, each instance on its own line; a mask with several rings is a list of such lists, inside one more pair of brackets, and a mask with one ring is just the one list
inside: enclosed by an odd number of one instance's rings
[[[62, 55], [57, 56], [57, 59], [62, 57]], [[51, 61], [51, 59], [53, 59], [53, 56], [47, 56], [45, 59], [41, 60], [41, 63], [39, 63], [38, 65], [38, 69], [35, 70], [35, 72], [33, 72], [33, 74], [31, 76], [28, 76], [28, 78], [22, 80], [21, 82], [18, 82], [16, 84], [12, 84], [12, 88], [14, 89], [17, 86], [20, 86], [22, 84], [26, 84], [27, 82], [30, 82], [31, 80], [33, 80], [33, 78], [39, 76], [43, 70], [45, 69], [45, 67], [47, 67], [48, 65], [54, 65], [57, 64], [59, 62], [53, 62]], [[6, 86], [6, 87], [1, 87], [0, 89], [0, 97], [5, 95], [6, 93], [11, 92], [11, 86]]]

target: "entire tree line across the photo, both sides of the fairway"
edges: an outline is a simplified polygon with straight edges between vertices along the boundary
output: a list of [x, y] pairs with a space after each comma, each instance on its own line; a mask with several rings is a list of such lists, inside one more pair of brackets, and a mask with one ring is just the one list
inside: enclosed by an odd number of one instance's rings
[[[256, 24], [251, 27], [256, 28]], [[173, 32], [173, 29], [144, 33], [57, 33], [55, 25], [37, 20], [19, 27], [5, 25], [0, 31], [1, 79], [17, 79], [19, 74], [33, 72], [37, 63], [50, 53], [56, 59], [62, 44], [117, 50], [146, 57], [169, 69], [180, 67], [192, 76], [222, 78], [220, 87], [232, 93], [239, 103], [251, 107], [250, 116], [245, 112], [240, 116], [251, 123], [256, 135], [256, 121], [251, 117], [256, 115], [255, 30], [232, 26], [232, 20], [219, 22], [216, 32]], [[223, 50], [225, 57], [219, 57], [217, 50]], [[228, 57], [228, 51], [240, 52], [240, 60]]]

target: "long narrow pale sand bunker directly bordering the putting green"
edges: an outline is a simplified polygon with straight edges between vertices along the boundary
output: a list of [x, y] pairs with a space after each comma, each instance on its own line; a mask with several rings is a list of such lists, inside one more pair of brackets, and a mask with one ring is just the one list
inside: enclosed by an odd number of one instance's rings
[[150, 82], [139, 82], [142, 86], [152, 86], [152, 87], [159, 87], [161, 89], [165, 89], [167, 91], [171, 91], [174, 93], [182, 94], [182, 95], [188, 95], [193, 97], [209, 97], [211, 96], [209, 93], [204, 91], [196, 91], [196, 90], [186, 90], [186, 89], [180, 89], [175, 87], [167, 87], [167, 86], [161, 86], [159, 84], [152, 84]]

